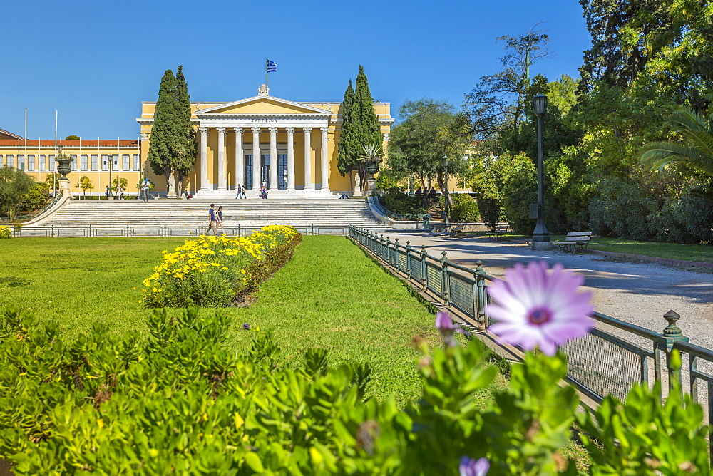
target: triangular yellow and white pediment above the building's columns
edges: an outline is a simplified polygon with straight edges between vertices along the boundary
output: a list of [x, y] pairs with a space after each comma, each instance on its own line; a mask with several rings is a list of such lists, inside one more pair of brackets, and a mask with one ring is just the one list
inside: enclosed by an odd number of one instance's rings
[[272, 96], [253, 96], [237, 100], [233, 103], [225, 103], [215, 105], [210, 108], [199, 109], [195, 111], [195, 115], [200, 117], [206, 116], [245, 116], [245, 115], [324, 115], [329, 118], [332, 111], [315, 108], [311, 105], [294, 103], [293, 101], [275, 98]]

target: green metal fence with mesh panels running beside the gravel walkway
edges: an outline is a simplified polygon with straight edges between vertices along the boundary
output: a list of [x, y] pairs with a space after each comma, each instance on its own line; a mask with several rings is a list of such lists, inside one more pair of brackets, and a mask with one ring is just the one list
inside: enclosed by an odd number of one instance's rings
[[[446, 308], [456, 309], [464, 316], [463, 327], [487, 331], [494, 322], [484, 307], [491, 300], [486, 292], [488, 283], [496, 278], [486, 274], [481, 261], [476, 262], [476, 269], [461, 267], [448, 262], [446, 252], [433, 257], [425, 247], [400, 244], [398, 239], [391, 242], [384, 234], [357, 227], [349, 227], [349, 238], [369, 250], [384, 267], [437, 296]], [[669, 311], [664, 315], [668, 326], [662, 333], [598, 312], [593, 317], [597, 327], [562, 348], [569, 363], [567, 380], [575, 388], [598, 403], [606, 395], [624, 399], [635, 383], [652, 387], [655, 381], [662, 382], [660, 398], [665, 398], [677, 382], [681, 384], [677, 388], [702, 404], [708, 423], [712, 423], [713, 351], [688, 342], [676, 326], [678, 314]], [[674, 349], [681, 353], [682, 369], [670, 365]], [[710, 451], [713, 455], [713, 443]]]

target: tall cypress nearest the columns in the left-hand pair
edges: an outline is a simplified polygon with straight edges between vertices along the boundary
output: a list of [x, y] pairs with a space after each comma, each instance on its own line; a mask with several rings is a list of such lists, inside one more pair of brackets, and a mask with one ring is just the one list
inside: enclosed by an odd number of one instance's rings
[[190, 95], [188, 83], [183, 76], [183, 66], [178, 66], [176, 71], [175, 88], [175, 155], [172, 167], [176, 175], [176, 192], [183, 190], [183, 179], [193, 170], [197, 145], [195, 143], [195, 130], [190, 123]]

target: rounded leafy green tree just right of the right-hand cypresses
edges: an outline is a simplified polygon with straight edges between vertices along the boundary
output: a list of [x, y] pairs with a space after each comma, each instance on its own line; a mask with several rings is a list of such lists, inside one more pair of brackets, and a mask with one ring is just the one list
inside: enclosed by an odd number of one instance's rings
[[[406, 101], [399, 115], [404, 120], [391, 130], [389, 166], [414, 175], [426, 190], [435, 181], [450, 200], [446, 176], [463, 179], [471, 174], [471, 164], [463, 158], [473, 145], [468, 118], [447, 101], [430, 98]], [[444, 156], [449, 157], [448, 170], [441, 162]]]

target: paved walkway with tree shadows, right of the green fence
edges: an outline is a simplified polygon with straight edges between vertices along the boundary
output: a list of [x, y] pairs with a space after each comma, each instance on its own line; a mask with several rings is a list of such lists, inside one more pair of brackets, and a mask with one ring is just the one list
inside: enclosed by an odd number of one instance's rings
[[[386, 237], [386, 234], [384, 234]], [[475, 268], [478, 259], [491, 276], [502, 277], [504, 269], [517, 262], [545, 259], [562, 263], [585, 276], [585, 287], [593, 291], [597, 311], [622, 321], [662, 331], [663, 314], [673, 309], [692, 343], [713, 348], [713, 274], [673, 269], [660, 264], [615, 262], [594, 254], [534, 252], [526, 244], [493, 242], [486, 237], [449, 237], [413, 232], [389, 232], [391, 241], [426, 245], [434, 257], [448, 252], [448, 259]]]

